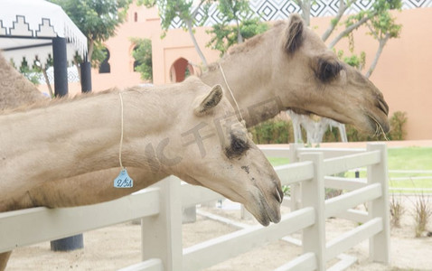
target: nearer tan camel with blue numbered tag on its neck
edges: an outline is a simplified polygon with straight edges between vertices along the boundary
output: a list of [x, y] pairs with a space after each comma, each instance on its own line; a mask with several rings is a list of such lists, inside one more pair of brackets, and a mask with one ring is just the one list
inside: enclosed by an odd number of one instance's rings
[[145, 185], [174, 174], [245, 204], [263, 225], [277, 222], [283, 197], [277, 174], [246, 128], [227, 115], [233, 109], [222, 93], [220, 85], [210, 89], [192, 77], [169, 87], [105, 93], [0, 116], [0, 199], [43, 182], [117, 167], [124, 121], [122, 161], [146, 173], [140, 180]]

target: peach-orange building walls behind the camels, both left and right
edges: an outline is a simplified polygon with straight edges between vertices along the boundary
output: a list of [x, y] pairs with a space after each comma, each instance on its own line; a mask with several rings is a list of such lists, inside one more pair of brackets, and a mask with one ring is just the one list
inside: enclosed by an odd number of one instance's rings
[[[137, 22], [134, 22], [137, 13]], [[403, 25], [399, 39], [390, 40], [371, 75], [371, 80], [383, 92], [390, 105], [390, 114], [405, 111], [408, 114], [407, 139], [432, 138], [432, 8], [416, 8], [394, 13], [397, 22]], [[329, 17], [313, 18], [311, 26], [317, 33], [323, 33], [330, 21]], [[162, 34], [157, 11], [132, 5], [128, 11], [127, 23], [117, 30], [117, 36], [106, 42], [111, 57], [111, 72], [99, 74], [93, 70], [93, 89], [126, 88], [143, 83], [139, 74], [133, 71], [133, 44], [130, 37], [149, 38], [153, 46], [154, 83], [170, 83], [170, 70], [174, 61], [184, 58], [193, 64], [201, 60], [193, 48], [189, 33], [182, 29], [168, 31], [161, 40]], [[218, 51], [205, 47], [209, 36], [204, 28], [196, 29], [197, 41], [200, 43], [207, 61], [216, 61]], [[332, 37], [327, 41], [331, 41]], [[347, 51], [346, 41], [339, 42], [337, 49]], [[378, 48], [378, 42], [360, 29], [355, 34], [355, 48], [366, 51], [369, 67]], [[79, 92], [78, 84], [70, 86], [70, 92]]]

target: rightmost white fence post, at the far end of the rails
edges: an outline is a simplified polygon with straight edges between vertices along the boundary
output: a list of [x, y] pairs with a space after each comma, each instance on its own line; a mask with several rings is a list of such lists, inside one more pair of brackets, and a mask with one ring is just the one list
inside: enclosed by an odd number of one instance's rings
[[387, 168], [387, 145], [369, 143], [367, 150], [380, 151], [380, 164], [368, 166], [368, 182], [381, 184], [382, 196], [368, 205], [372, 219], [382, 218], [382, 231], [369, 240], [370, 257], [375, 262], [390, 263], [390, 207], [389, 176]]

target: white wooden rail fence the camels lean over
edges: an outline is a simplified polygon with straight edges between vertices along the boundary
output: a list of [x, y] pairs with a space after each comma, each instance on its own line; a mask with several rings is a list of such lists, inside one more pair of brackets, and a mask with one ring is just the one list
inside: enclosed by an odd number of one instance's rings
[[[293, 186], [293, 211], [284, 215], [278, 224], [267, 228], [251, 226], [183, 248], [182, 208], [222, 197], [202, 187], [182, 185], [171, 176], [154, 187], [116, 201], [76, 208], [33, 208], [0, 213], [0, 253], [142, 218], [143, 262], [123, 268], [123, 271], [201, 270], [298, 230], [303, 231], [303, 254], [278, 267], [277, 271], [324, 270], [330, 259], [368, 238], [371, 259], [389, 263], [385, 145], [369, 144], [366, 150], [290, 145], [289, 150], [264, 148], [263, 151], [268, 156], [298, 161], [276, 168], [283, 184]], [[367, 181], [331, 177], [334, 173], [363, 166], [368, 169]], [[301, 189], [294, 187], [298, 183], [301, 183]], [[324, 201], [324, 187], [348, 192]], [[363, 202], [369, 202], [368, 212], [352, 210]], [[326, 242], [325, 220], [329, 217], [343, 217], [362, 224]]]

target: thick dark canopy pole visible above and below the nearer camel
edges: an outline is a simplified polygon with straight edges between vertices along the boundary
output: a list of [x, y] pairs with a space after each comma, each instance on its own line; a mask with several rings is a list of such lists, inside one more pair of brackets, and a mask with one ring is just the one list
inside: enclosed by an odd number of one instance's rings
[[[54, 95], [68, 94], [68, 55], [65, 38], [52, 39], [52, 59], [54, 61]], [[70, 251], [84, 248], [82, 234], [51, 241], [52, 251]]]

